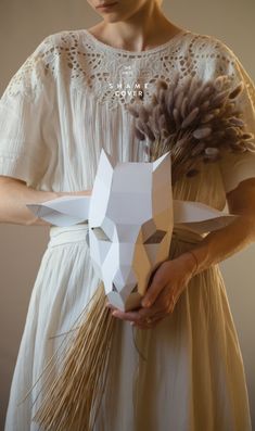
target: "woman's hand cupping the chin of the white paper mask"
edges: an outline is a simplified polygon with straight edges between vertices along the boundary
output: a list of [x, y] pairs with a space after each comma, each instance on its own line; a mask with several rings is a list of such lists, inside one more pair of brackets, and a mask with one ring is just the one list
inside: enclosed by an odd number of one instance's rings
[[[110, 303], [112, 315], [130, 321], [139, 328], [151, 328], [169, 313], [193, 277], [196, 262], [191, 253], [186, 252], [173, 261], [163, 262], [156, 269], [152, 282], [142, 300], [142, 307], [131, 312], [120, 312]], [[148, 304], [148, 305], [146, 305]], [[150, 319], [149, 321], [146, 319]]]

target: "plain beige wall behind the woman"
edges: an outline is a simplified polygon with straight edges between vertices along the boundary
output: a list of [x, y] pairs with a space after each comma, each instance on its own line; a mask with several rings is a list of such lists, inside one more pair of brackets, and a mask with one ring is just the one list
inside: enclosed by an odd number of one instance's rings
[[[254, 0], [164, 0], [164, 10], [179, 26], [225, 41], [255, 79]], [[62, 29], [89, 28], [98, 20], [86, 0], [1, 0], [0, 94], [43, 37]], [[0, 225], [0, 430], [28, 301], [48, 234], [46, 227]], [[254, 256], [255, 244], [225, 261], [221, 268], [240, 337], [255, 426]]]

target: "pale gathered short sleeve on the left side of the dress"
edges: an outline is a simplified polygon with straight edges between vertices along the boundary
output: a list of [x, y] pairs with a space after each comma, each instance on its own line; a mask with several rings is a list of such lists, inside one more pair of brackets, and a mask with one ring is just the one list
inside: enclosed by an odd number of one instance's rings
[[50, 157], [51, 81], [43, 64], [44, 39], [10, 80], [0, 99], [0, 175], [36, 186]]

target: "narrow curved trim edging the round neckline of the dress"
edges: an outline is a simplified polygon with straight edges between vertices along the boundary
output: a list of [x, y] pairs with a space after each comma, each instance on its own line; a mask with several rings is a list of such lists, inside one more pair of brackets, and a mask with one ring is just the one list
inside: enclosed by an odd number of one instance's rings
[[175, 36], [173, 36], [169, 40], [167, 40], [165, 43], [161, 43], [157, 47], [148, 49], [148, 50], [143, 50], [143, 51], [129, 51], [129, 50], [125, 50], [122, 48], [116, 48], [116, 47], [112, 47], [111, 45], [106, 45], [104, 42], [102, 42], [101, 40], [97, 39], [95, 36], [93, 36], [87, 28], [84, 29], [85, 34], [88, 36], [88, 38], [90, 38], [94, 45], [98, 45], [99, 47], [103, 48], [104, 50], [109, 50], [112, 52], [116, 52], [116, 53], [125, 53], [125, 54], [129, 54], [129, 55], [148, 55], [150, 53], [153, 52], [157, 52], [157, 51], [162, 51], [166, 48], [168, 48], [170, 45], [173, 45], [174, 42], [176, 42], [178, 39], [180, 39], [181, 36], [184, 36], [187, 34], [190, 34], [190, 30], [186, 30], [182, 29], [180, 31], [178, 31]]

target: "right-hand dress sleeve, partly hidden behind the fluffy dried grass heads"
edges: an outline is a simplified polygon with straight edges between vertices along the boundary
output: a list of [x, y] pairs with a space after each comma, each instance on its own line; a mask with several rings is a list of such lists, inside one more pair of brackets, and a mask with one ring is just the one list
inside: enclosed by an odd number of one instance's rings
[[[221, 42], [222, 43], [222, 42]], [[233, 79], [233, 87], [243, 81], [244, 89], [237, 99], [237, 107], [243, 114], [245, 129], [255, 136], [255, 85], [244, 66], [233, 53], [224, 45], [225, 59], [228, 62], [227, 74]], [[226, 193], [233, 190], [238, 185], [255, 177], [255, 152], [245, 151], [243, 153], [227, 153], [219, 161]]]

